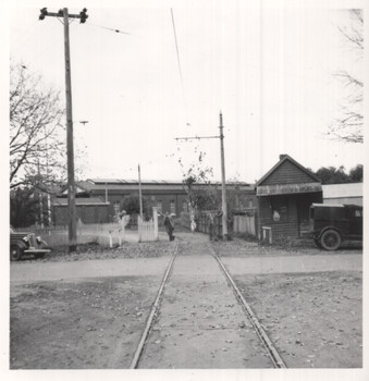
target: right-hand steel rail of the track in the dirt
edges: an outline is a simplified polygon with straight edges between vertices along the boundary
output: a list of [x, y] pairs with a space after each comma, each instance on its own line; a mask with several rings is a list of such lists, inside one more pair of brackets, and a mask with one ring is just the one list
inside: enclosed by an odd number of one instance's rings
[[226, 270], [226, 268], [224, 267], [224, 265], [220, 260], [220, 258], [219, 258], [218, 254], [216, 253], [214, 248], [210, 244], [208, 244], [208, 247], [210, 248], [211, 254], [214, 257], [214, 259], [218, 261], [219, 267], [223, 271], [223, 273], [224, 273], [229, 284], [231, 285], [231, 287], [232, 287], [236, 298], [241, 303], [241, 305], [242, 305], [244, 311], [246, 312], [248, 319], [250, 320], [250, 322], [251, 322], [256, 333], [258, 334], [260, 341], [262, 342], [262, 344], [265, 345], [266, 349], [268, 351], [268, 354], [271, 357], [275, 368], [287, 368], [286, 365], [284, 364], [283, 359], [279, 355], [278, 351], [275, 349], [273, 343], [269, 339], [267, 332], [265, 331], [265, 329], [262, 328], [261, 323], [259, 322], [258, 318], [255, 316], [251, 307], [246, 302], [246, 299], [242, 295], [241, 291], [238, 290], [237, 285], [233, 281], [231, 274], [229, 273], [229, 271]]

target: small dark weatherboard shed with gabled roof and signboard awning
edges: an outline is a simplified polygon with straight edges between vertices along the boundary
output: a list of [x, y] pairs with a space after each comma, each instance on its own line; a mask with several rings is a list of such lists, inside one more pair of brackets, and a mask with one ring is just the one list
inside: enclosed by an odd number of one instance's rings
[[256, 195], [259, 238], [271, 235], [275, 241], [308, 232], [310, 205], [322, 202], [322, 186], [310, 171], [288, 155], [281, 155], [256, 183]]

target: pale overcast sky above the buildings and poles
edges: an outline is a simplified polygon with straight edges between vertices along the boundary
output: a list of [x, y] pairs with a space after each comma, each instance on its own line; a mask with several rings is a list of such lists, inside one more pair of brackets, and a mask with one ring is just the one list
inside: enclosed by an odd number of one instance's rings
[[[361, 145], [325, 136], [342, 101], [333, 74], [362, 70], [337, 32], [349, 22], [346, 11], [306, 1], [173, 2], [181, 84], [170, 2], [90, 3], [86, 24], [70, 25], [73, 120], [89, 122], [74, 125], [75, 145], [86, 146], [85, 177], [135, 179], [140, 163], [143, 179], [181, 180], [179, 155], [189, 164], [198, 146], [220, 180], [219, 139], [174, 139], [218, 135], [220, 110], [227, 179], [254, 182], [280, 153], [312, 170], [364, 163]], [[38, 20], [44, 4], [14, 4], [12, 58], [64, 101], [63, 25]]]

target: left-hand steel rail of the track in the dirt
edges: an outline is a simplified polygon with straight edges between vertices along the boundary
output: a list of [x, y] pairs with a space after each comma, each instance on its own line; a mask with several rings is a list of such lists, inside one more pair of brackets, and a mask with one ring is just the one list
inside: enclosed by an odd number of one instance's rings
[[130, 369], [137, 369], [138, 368], [139, 360], [142, 358], [146, 341], [148, 339], [148, 335], [150, 333], [150, 330], [151, 330], [151, 327], [152, 327], [152, 323], [153, 323], [153, 319], [157, 316], [157, 312], [159, 310], [161, 296], [163, 294], [167, 281], [168, 281], [169, 276], [170, 276], [171, 271], [172, 271], [174, 259], [175, 259], [175, 257], [177, 255], [177, 251], [179, 251], [179, 246], [180, 246], [179, 241], [176, 241], [176, 246], [174, 248], [174, 253], [173, 253], [172, 258], [171, 258], [171, 260], [170, 260], [170, 262], [168, 265], [168, 268], [167, 268], [165, 274], [163, 276], [163, 280], [161, 281], [160, 288], [158, 291], [158, 294], [157, 294], [157, 297], [155, 299], [155, 303], [153, 303], [153, 305], [151, 307], [150, 315], [149, 315], [149, 317], [147, 319], [146, 327], [145, 327], [143, 335], [142, 335], [142, 337], [139, 340], [139, 343], [138, 343], [138, 346], [136, 348], [135, 355], [133, 356]]

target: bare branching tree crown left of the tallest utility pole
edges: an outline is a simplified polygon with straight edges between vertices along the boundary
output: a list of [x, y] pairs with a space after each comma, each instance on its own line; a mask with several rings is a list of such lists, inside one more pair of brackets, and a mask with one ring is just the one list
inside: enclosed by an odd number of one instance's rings
[[[10, 67], [10, 187], [50, 184], [65, 177], [64, 110], [59, 93], [22, 64]], [[46, 189], [44, 189], [46, 190]]]

